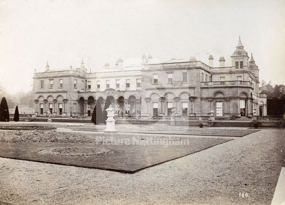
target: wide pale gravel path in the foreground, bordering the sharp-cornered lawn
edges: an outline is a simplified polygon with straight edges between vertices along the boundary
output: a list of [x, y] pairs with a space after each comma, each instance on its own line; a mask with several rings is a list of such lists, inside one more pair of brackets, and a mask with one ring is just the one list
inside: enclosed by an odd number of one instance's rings
[[261, 130], [135, 174], [0, 158], [0, 201], [270, 204], [285, 166], [284, 136], [284, 130]]

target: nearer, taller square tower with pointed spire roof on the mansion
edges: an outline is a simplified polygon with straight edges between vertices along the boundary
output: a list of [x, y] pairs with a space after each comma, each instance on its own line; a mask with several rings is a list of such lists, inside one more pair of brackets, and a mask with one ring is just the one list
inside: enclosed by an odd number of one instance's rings
[[231, 55], [233, 69], [248, 69], [249, 57], [243, 48], [241, 37], [239, 36], [239, 43], [233, 52], [233, 55]]

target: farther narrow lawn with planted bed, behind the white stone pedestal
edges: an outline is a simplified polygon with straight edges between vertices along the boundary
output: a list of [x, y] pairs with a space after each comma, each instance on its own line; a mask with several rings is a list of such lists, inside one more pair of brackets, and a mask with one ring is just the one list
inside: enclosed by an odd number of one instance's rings
[[[93, 127], [74, 127], [77, 131], [104, 131], [103, 126]], [[186, 134], [186, 135], [204, 135], [204, 136], [230, 136], [243, 137], [245, 135], [260, 130], [237, 130], [237, 129], [209, 129], [209, 128], [188, 128], [174, 127], [169, 125], [121, 125], [117, 126], [118, 132], [129, 133], [149, 133], [149, 134]]]

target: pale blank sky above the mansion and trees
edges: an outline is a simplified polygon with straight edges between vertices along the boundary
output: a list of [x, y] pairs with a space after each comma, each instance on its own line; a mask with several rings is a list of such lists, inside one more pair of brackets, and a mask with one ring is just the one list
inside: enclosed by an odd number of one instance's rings
[[231, 66], [238, 38], [260, 81], [285, 83], [285, 1], [0, 1], [0, 85], [32, 89], [34, 69], [85, 67], [151, 54], [160, 61], [213, 55]]

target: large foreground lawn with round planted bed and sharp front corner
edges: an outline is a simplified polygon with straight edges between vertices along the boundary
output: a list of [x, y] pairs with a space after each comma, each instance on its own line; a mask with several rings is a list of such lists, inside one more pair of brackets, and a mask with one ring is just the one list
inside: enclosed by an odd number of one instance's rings
[[99, 133], [98, 136], [56, 131], [0, 132], [0, 157], [135, 173], [231, 140], [144, 135], [114, 137]]

